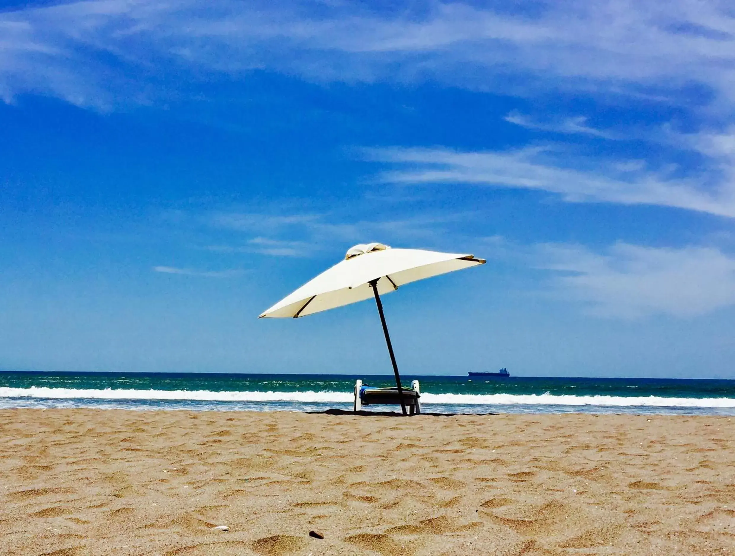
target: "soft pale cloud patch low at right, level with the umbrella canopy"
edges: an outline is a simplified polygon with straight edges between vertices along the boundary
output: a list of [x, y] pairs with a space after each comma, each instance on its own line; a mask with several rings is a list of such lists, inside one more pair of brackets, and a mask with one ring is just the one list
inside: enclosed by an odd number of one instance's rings
[[603, 317], [693, 317], [735, 305], [735, 257], [716, 248], [541, 245], [537, 256], [559, 272], [554, 284], [565, 297]]

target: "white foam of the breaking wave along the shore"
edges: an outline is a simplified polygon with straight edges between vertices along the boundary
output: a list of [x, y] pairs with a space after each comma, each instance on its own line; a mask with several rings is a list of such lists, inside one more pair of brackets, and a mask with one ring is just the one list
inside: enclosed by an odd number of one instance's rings
[[[43, 398], [52, 400], [194, 400], [204, 402], [302, 402], [345, 403], [352, 392], [334, 391], [209, 391], [67, 389], [31, 386], [0, 388], [0, 398]], [[554, 394], [421, 394], [424, 404], [441, 405], [598, 405], [614, 407], [735, 408], [735, 398], [686, 398], [658, 396], [557, 396]]]

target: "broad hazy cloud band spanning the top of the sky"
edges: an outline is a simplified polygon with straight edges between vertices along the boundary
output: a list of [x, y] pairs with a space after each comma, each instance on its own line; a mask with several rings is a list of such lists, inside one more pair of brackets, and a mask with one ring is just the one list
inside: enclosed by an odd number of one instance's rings
[[182, 75], [254, 68], [319, 82], [420, 82], [534, 94], [646, 94], [686, 102], [700, 84], [735, 100], [726, 3], [85, 0], [0, 13], [0, 95], [110, 109]]

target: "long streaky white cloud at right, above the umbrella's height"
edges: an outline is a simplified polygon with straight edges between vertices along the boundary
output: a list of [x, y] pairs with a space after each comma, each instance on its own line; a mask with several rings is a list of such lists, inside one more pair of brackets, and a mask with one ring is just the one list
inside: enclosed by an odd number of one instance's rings
[[[723, 151], [723, 144], [729, 148], [729, 142], [721, 138], [707, 144], [711, 143]], [[650, 170], [639, 160], [608, 162], [552, 146], [480, 152], [383, 148], [366, 149], [365, 154], [399, 167], [382, 174], [393, 183], [537, 189], [570, 202], [649, 204], [735, 217], [735, 165], [724, 152], [722, 164], [695, 176], [681, 176], [675, 166]]]

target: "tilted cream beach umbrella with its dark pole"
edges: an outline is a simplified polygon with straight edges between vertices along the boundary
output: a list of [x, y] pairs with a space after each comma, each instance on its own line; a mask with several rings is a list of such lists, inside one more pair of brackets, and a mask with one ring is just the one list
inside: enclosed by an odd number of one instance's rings
[[264, 311], [258, 318], [296, 319], [374, 297], [395, 374], [395, 386], [398, 387], [401, 408], [406, 414], [401, 376], [398, 374], [398, 364], [395, 362], [390, 343], [380, 295], [395, 292], [400, 286], [410, 282], [484, 263], [483, 259], [475, 259], [473, 255], [460, 253], [392, 249], [382, 243], [355, 245], [347, 251], [343, 261], [306, 282], [295, 292]]

